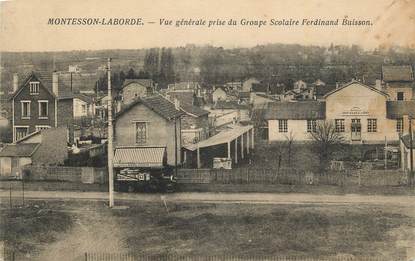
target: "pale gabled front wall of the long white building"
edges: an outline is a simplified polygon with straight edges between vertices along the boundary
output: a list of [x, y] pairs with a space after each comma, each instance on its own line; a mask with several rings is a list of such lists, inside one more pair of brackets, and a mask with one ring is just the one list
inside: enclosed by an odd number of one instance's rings
[[[351, 140], [351, 120], [361, 119], [362, 141], [368, 143], [383, 143], [385, 136], [388, 140], [398, 140], [396, 120], [386, 118], [387, 97], [370, 90], [358, 83], [353, 83], [326, 98], [326, 119], [345, 119], [345, 138]], [[359, 108], [362, 113], [354, 116], [344, 115], [352, 108]], [[377, 119], [377, 132], [367, 132], [367, 119]]]

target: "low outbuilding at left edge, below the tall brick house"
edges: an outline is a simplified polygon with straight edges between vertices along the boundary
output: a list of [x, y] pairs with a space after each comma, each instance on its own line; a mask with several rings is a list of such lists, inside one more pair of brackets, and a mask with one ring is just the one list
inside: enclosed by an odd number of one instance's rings
[[68, 158], [67, 129], [50, 128], [33, 132], [0, 151], [0, 173], [20, 173], [25, 165], [59, 165]]

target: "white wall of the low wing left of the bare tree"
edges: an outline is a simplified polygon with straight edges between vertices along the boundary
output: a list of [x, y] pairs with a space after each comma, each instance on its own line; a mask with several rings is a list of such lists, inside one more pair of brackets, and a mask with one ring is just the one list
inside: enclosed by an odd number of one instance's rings
[[288, 120], [288, 132], [278, 131], [278, 120], [268, 121], [269, 141], [286, 141], [291, 134], [293, 135], [294, 141], [311, 140], [311, 136], [307, 132], [306, 120]]

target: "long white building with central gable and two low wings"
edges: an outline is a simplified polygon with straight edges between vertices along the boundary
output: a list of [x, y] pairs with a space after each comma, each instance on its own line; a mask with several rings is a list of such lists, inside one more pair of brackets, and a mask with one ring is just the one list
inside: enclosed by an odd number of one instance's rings
[[307, 141], [318, 121], [330, 121], [353, 144], [397, 142], [413, 116], [414, 101], [391, 101], [387, 93], [358, 81], [333, 89], [324, 101], [272, 103], [265, 113], [269, 141], [291, 134], [297, 141]]

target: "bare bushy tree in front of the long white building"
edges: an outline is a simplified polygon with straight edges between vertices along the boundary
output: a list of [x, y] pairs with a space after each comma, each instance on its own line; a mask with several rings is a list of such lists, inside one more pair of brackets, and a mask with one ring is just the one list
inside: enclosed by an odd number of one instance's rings
[[345, 138], [342, 133], [336, 131], [333, 121], [317, 122], [310, 136], [313, 140], [313, 149], [319, 157], [320, 170], [324, 171], [333, 153], [343, 147]]

